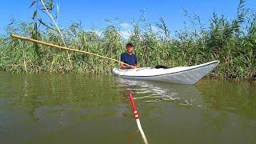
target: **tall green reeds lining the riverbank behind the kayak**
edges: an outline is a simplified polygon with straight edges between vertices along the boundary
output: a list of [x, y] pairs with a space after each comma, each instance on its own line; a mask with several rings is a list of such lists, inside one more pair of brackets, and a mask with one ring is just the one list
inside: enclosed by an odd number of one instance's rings
[[[33, 1], [34, 9], [30, 22], [11, 20], [7, 34], [19, 34], [63, 46], [62, 38], [51, 22], [44, 21], [40, 14], [40, 1]], [[46, 1], [45, 1], [46, 2]], [[54, 18], [58, 9], [54, 2], [46, 2]], [[85, 30], [80, 22], [62, 28], [66, 45], [78, 50], [90, 51], [118, 59], [125, 50], [126, 42], [133, 42], [135, 54], [141, 66], [192, 66], [219, 60], [212, 72], [219, 78], [256, 78], [256, 14], [246, 8], [246, 2], [238, 3], [237, 17], [213, 14], [209, 24], [202, 24], [196, 14], [184, 12], [193, 28], [185, 26], [170, 35], [164, 18], [152, 24], [141, 18], [130, 23], [133, 26], [129, 38], [122, 37], [122, 21], [109, 20], [102, 30]], [[157, 28], [158, 30], [154, 30]], [[53, 50], [35, 43], [0, 38], [0, 69], [14, 72], [76, 72], [110, 73], [117, 63], [90, 55]]]

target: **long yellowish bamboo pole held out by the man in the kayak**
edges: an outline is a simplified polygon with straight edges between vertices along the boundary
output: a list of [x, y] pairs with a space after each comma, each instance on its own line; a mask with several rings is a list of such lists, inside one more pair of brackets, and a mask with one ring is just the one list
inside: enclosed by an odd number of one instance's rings
[[36, 43], [41, 44], [41, 45], [50, 46], [50, 47], [54, 47], [54, 48], [58, 48], [58, 49], [62, 49], [62, 50], [70, 50], [70, 51], [75, 51], [75, 52], [79, 52], [79, 53], [82, 53], [82, 54], [90, 54], [90, 55], [94, 55], [94, 56], [99, 57], [99, 58], [109, 59], [111, 61], [122, 63], [122, 64], [124, 64], [126, 66], [130, 66], [129, 64], [127, 64], [125, 62], [121, 62], [121, 61], [118, 61], [118, 60], [113, 59], [113, 58], [107, 58], [107, 57], [104, 57], [102, 55], [90, 53], [90, 52], [87, 52], [87, 51], [70, 49], [68, 47], [58, 46], [58, 45], [54, 45], [54, 44], [51, 44], [51, 43], [42, 42], [42, 41], [38, 41], [38, 40], [35, 40], [35, 39], [32, 39], [32, 38], [26, 38], [26, 37], [14, 35], [14, 34], [11, 34], [10, 37], [11, 38], [16, 38], [16, 39], [22, 39], [22, 40], [27, 41], [27, 42], [36, 42]]

